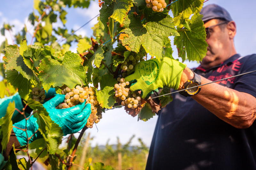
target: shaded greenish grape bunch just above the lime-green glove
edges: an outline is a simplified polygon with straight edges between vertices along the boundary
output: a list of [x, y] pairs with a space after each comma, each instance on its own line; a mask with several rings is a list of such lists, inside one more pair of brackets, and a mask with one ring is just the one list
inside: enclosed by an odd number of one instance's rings
[[[145, 51], [146, 53], [146, 51]], [[125, 59], [125, 61], [121, 65], [122, 71], [130, 71], [133, 69], [133, 67], [139, 62], [144, 61], [144, 55], [143, 53], [136, 54], [135, 52], [132, 52], [131, 55]], [[125, 77], [126, 74], [124, 74]]]

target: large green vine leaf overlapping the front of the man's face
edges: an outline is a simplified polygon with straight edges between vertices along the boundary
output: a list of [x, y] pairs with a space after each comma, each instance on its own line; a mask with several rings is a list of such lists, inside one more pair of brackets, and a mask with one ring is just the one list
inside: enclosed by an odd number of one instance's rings
[[208, 44], [205, 41], [206, 33], [201, 18], [200, 14], [193, 15], [189, 23], [191, 31], [178, 28], [180, 36], [174, 37], [174, 44], [178, 48], [182, 61], [185, 61], [186, 53], [189, 61], [202, 61], [206, 55]]

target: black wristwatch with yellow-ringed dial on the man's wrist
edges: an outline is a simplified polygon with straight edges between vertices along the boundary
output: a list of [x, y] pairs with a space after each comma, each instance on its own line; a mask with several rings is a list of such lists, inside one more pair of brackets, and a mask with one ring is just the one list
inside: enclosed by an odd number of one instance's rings
[[[194, 96], [197, 93], [199, 93], [201, 90], [201, 86], [198, 86], [198, 85], [201, 85], [201, 77], [198, 74], [194, 73], [194, 78], [191, 80], [188, 80], [186, 83], [184, 83], [182, 87], [183, 89], [187, 89], [187, 90], [181, 91], [179, 93], [185, 97]], [[194, 88], [191, 88], [191, 87], [194, 87]], [[191, 89], [188, 89], [188, 88], [191, 88]]]

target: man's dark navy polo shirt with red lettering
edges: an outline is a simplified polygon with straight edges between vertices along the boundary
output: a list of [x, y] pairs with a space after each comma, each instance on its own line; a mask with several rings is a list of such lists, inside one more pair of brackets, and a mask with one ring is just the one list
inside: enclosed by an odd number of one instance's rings
[[[215, 81], [252, 70], [256, 70], [255, 54], [237, 54], [212, 69], [199, 66], [194, 71]], [[256, 97], [256, 72], [218, 84]], [[158, 113], [147, 170], [256, 170], [255, 122], [237, 129], [190, 97], [179, 93], [172, 97]]]

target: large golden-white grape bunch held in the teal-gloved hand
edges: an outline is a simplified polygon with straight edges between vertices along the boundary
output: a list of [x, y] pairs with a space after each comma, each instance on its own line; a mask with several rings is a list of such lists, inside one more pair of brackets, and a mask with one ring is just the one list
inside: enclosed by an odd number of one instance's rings
[[76, 106], [79, 102], [86, 102], [91, 104], [91, 114], [87, 119], [86, 127], [92, 128], [92, 125], [98, 123], [102, 118], [102, 107], [99, 106], [97, 96], [94, 95], [95, 91], [92, 87], [80, 87], [79, 85], [76, 88], [70, 89], [68, 87], [64, 88], [61, 91], [61, 94], [65, 94], [65, 100], [63, 103], [60, 103], [57, 108], [64, 109]]

